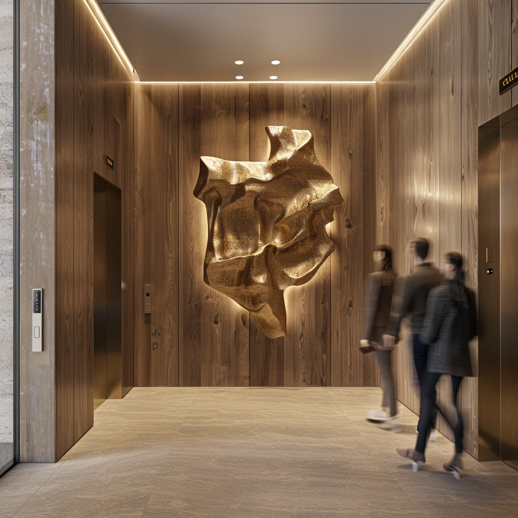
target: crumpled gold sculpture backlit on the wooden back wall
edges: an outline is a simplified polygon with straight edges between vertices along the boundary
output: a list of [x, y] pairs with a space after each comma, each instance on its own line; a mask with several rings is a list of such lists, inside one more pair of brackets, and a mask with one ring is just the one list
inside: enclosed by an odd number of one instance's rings
[[284, 290], [308, 282], [335, 249], [325, 225], [343, 202], [309, 131], [268, 126], [268, 162], [200, 159], [194, 195], [207, 207], [205, 282], [286, 334]]

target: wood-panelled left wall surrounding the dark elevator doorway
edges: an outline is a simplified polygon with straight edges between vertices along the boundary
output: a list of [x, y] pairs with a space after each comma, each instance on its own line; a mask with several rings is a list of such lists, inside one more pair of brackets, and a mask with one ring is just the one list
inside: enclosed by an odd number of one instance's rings
[[[93, 174], [122, 191], [123, 394], [133, 386], [133, 81], [82, 0], [57, 0], [56, 433], [93, 425]], [[109, 168], [103, 155], [114, 160]]]

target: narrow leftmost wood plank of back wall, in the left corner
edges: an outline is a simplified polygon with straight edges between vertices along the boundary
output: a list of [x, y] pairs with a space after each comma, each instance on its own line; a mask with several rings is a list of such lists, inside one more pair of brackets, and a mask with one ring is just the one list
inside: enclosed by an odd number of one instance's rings
[[134, 256], [134, 361], [135, 385], [151, 384], [151, 318], [144, 314], [145, 285], [151, 284], [149, 253], [151, 250], [151, 85], [135, 85], [135, 173], [133, 233], [135, 236]]

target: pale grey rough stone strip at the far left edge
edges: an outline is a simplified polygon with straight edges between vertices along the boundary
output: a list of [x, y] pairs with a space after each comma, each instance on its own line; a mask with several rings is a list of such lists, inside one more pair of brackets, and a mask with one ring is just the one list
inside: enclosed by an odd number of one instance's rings
[[0, 2], [0, 443], [12, 442], [12, 9], [12, 2]]

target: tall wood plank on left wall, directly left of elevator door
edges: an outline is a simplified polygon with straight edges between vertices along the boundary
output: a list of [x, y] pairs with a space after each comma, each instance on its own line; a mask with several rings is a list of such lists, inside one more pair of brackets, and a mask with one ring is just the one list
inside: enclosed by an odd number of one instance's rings
[[93, 425], [93, 18], [74, 3], [74, 440]]

